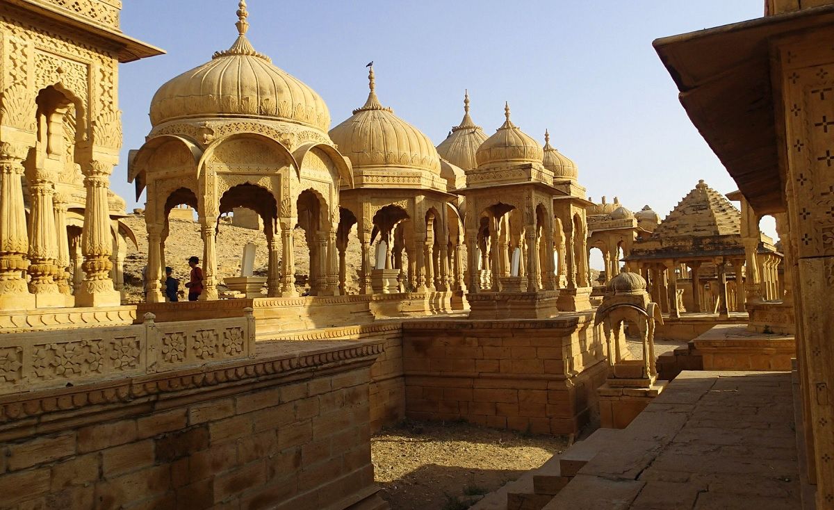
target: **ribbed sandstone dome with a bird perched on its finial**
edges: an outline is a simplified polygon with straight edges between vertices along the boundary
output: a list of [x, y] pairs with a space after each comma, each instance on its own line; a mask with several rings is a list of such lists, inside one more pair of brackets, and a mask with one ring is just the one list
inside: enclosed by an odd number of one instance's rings
[[339, 153], [354, 169], [374, 167], [417, 168], [440, 175], [440, 156], [429, 137], [394, 115], [376, 97], [374, 67], [368, 74], [370, 92], [363, 107], [330, 130]]

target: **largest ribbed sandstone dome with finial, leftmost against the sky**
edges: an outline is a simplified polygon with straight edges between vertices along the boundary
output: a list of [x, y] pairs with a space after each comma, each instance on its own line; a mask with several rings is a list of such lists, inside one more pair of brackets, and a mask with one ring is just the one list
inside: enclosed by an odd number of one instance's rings
[[255, 51], [245, 36], [248, 15], [240, 2], [239, 36], [232, 47], [159, 87], [151, 102], [151, 125], [189, 117], [272, 117], [327, 131], [330, 113], [324, 100]]

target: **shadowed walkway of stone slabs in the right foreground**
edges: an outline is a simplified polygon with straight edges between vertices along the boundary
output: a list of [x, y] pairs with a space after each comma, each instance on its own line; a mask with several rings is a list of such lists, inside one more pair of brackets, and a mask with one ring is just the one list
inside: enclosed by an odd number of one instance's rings
[[790, 373], [683, 372], [545, 510], [793, 509]]

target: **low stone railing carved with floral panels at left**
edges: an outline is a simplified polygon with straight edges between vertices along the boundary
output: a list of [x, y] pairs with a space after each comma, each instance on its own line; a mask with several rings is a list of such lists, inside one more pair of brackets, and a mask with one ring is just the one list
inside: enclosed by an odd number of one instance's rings
[[252, 358], [252, 308], [243, 317], [144, 322], [0, 336], [0, 395], [98, 383]]

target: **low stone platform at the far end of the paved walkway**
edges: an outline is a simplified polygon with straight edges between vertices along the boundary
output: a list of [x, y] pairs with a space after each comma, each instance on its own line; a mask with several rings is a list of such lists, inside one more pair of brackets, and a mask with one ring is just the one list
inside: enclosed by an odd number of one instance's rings
[[681, 370], [791, 370], [793, 335], [756, 333], [746, 324], [719, 324], [657, 360], [662, 379]]

